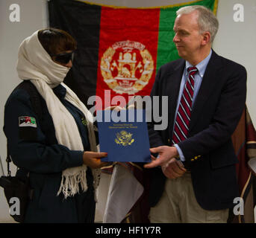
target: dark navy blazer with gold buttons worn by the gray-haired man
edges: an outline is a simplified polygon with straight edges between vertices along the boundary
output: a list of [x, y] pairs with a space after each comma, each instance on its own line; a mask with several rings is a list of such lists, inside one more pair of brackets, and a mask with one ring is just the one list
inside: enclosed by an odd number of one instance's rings
[[[185, 60], [163, 65], [152, 89], [152, 96], [168, 96], [168, 128], [155, 131], [149, 123], [151, 147], [171, 145], [175, 109]], [[187, 140], [178, 144], [191, 167], [197, 202], [205, 210], [232, 208], [239, 196], [231, 135], [246, 103], [246, 69], [218, 56], [214, 51], [207, 65], [199, 94], [193, 105]], [[160, 102], [160, 113], [162, 112]], [[150, 171], [149, 202], [157, 204], [166, 177], [157, 167]]]

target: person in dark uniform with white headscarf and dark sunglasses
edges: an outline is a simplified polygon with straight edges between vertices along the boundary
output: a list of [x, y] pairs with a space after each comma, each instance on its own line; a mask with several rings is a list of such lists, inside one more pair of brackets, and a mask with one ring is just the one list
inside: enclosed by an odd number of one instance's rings
[[23, 82], [7, 99], [4, 133], [18, 175], [29, 173], [34, 190], [25, 222], [94, 222], [107, 153], [97, 152], [93, 115], [63, 83], [75, 48], [69, 33], [54, 28], [19, 46]]

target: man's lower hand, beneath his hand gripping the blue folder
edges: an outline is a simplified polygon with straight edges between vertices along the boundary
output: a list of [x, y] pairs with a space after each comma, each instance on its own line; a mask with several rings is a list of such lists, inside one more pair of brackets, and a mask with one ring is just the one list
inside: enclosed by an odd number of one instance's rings
[[169, 163], [162, 165], [163, 174], [169, 179], [177, 179], [186, 173], [181, 161], [177, 161], [176, 158], [171, 158]]

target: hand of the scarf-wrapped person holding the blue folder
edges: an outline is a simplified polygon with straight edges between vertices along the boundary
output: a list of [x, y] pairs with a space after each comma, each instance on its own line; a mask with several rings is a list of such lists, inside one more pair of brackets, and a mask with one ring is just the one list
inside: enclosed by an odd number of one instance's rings
[[100, 158], [107, 157], [106, 152], [92, 152], [86, 151], [83, 155], [84, 164], [92, 169], [99, 169], [101, 167], [107, 166], [107, 162], [102, 162]]

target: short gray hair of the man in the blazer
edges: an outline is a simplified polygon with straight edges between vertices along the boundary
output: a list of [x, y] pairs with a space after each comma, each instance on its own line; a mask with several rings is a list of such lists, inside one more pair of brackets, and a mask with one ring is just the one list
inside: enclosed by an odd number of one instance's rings
[[216, 33], [219, 29], [219, 21], [210, 9], [200, 5], [187, 6], [181, 7], [179, 10], [177, 10], [176, 14], [177, 16], [182, 14], [189, 14], [192, 13], [194, 10], [197, 10], [197, 12], [199, 13], [198, 22], [200, 33], [209, 31], [211, 36], [210, 41], [213, 42], [213, 39], [215, 38]]

